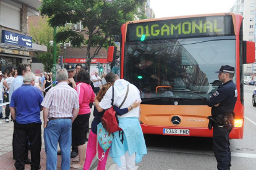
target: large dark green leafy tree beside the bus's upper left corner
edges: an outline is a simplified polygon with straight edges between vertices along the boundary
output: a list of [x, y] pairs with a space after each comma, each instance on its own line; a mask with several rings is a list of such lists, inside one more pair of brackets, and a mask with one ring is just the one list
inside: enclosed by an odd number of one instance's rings
[[[50, 26], [62, 26], [56, 34], [57, 42], [70, 41], [72, 46], [87, 45], [87, 67], [101, 47], [109, 46], [109, 39], [120, 34], [120, 27], [129, 20], [134, 20], [139, 13], [138, 7], [146, 0], [43, 0], [41, 16], [49, 17]], [[71, 30], [66, 23], [82, 22], [83, 30]], [[90, 49], [95, 52], [90, 54]]]

